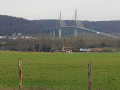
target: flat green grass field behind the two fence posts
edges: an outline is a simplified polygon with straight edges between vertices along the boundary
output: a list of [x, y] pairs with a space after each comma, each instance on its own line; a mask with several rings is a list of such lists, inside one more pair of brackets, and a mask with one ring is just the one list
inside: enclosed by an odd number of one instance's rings
[[0, 51], [0, 87], [18, 88], [18, 58], [23, 88], [87, 90], [92, 61], [93, 89], [120, 90], [120, 53], [35, 53]]

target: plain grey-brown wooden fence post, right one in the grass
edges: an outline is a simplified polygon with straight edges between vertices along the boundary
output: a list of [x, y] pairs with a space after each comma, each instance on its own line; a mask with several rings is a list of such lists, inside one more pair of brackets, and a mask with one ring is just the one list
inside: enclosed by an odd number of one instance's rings
[[88, 64], [88, 90], [93, 90], [92, 87], [92, 62]]

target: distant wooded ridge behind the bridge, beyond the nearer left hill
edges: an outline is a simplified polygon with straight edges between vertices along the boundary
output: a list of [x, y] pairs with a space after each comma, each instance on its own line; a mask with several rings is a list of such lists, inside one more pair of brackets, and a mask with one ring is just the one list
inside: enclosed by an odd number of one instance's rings
[[[59, 20], [35, 20], [36, 23], [43, 25], [45, 29], [59, 27]], [[73, 20], [65, 20], [68, 26], [75, 25]], [[85, 28], [97, 30], [104, 33], [120, 34], [119, 21], [82, 21]]]

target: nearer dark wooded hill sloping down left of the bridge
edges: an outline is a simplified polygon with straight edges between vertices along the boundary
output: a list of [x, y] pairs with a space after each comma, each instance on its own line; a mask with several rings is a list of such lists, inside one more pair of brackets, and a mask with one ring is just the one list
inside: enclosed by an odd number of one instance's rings
[[22, 34], [43, 34], [42, 25], [23, 18], [0, 15], [0, 35]]

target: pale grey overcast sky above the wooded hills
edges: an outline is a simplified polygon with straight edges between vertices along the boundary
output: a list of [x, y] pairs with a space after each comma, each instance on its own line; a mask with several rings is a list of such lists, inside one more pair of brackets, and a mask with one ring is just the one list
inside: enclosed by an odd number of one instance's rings
[[26, 19], [120, 20], [120, 0], [0, 0], [0, 14]]

